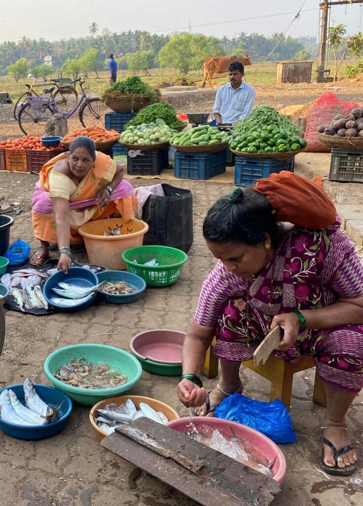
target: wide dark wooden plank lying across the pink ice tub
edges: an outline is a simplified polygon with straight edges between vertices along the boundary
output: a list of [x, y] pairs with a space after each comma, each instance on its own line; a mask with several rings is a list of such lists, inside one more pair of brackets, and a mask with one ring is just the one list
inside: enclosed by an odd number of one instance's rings
[[104, 438], [102, 446], [203, 506], [268, 506], [281, 490], [272, 478], [185, 434], [145, 418], [130, 425], [162, 441], [175, 453], [182, 452], [189, 459], [202, 460], [203, 467], [193, 474], [175, 460], [150, 451], [117, 432]]

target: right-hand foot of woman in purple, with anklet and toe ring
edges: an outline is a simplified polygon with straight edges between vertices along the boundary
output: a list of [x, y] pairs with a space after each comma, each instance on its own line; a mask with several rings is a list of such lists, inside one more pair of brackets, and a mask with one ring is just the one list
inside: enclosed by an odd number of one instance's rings
[[[341, 424], [337, 424], [328, 418], [324, 418], [322, 427], [327, 427], [327, 429], [322, 429], [322, 435], [333, 443], [338, 451], [351, 443], [348, 431], [346, 430], [345, 421]], [[342, 458], [342, 460], [340, 460], [340, 458]], [[334, 468], [336, 465], [340, 469], [351, 466], [358, 460], [358, 455], [356, 450], [352, 448], [340, 455], [338, 459], [336, 463], [333, 450], [328, 445], [324, 445], [324, 462], [330, 468]]]

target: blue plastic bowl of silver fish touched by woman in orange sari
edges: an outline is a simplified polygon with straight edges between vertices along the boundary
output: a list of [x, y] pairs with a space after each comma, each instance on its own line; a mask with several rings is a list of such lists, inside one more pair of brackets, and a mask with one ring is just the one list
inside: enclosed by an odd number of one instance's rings
[[[80, 311], [81, 309], [86, 308], [97, 297], [97, 290], [93, 293], [92, 297], [87, 302], [84, 302], [82, 304], [77, 304], [76, 306], [64, 308], [63, 306], [58, 306], [57, 304], [54, 304], [50, 301], [50, 299], [54, 297], [59, 297], [52, 288], [59, 288], [58, 283], [72, 283], [78, 286], [83, 287], [91, 287], [96, 286], [98, 284], [97, 276], [88, 269], [83, 269], [83, 267], [70, 267], [68, 269], [68, 274], [65, 274], [63, 271], [58, 271], [56, 274], [53, 274], [53, 276], [50, 276], [45, 281], [45, 284], [43, 286], [43, 293], [44, 297], [48, 304], [51, 304], [55, 308], [59, 309], [60, 311], [66, 311], [74, 313], [76, 311]], [[73, 301], [74, 299], [69, 299], [70, 301]]]

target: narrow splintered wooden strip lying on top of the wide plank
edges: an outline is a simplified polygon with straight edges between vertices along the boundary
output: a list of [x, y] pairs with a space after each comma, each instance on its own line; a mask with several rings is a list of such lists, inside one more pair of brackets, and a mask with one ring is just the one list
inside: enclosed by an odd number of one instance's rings
[[136, 427], [133, 427], [132, 425], [121, 425], [116, 429], [116, 432], [131, 439], [131, 441], [135, 441], [135, 443], [145, 446], [145, 448], [148, 448], [149, 450], [159, 453], [159, 455], [162, 455], [165, 458], [175, 460], [178, 464], [183, 466], [183, 468], [188, 469], [192, 473], [197, 474], [199, 469], [204, 465], [199, 458], [190, 458], [188, 455], [184, 455], [180, 450], [173, 451], [163, 444], [162, 441], [159, 441], [147, 432], [136, 429]]

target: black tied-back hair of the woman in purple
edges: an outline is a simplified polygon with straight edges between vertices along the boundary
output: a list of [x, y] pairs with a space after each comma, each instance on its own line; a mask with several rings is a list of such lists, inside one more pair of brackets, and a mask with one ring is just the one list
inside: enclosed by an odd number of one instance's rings
[[267, 234], [276, 249], [281, 224], [276, 221], [266, 196], [252, 188], [234, 190], [231, 196], [217, 200], [203, 223], [203, 236], [211, 242], [240, 242], [250, 246], [266, 240]]

